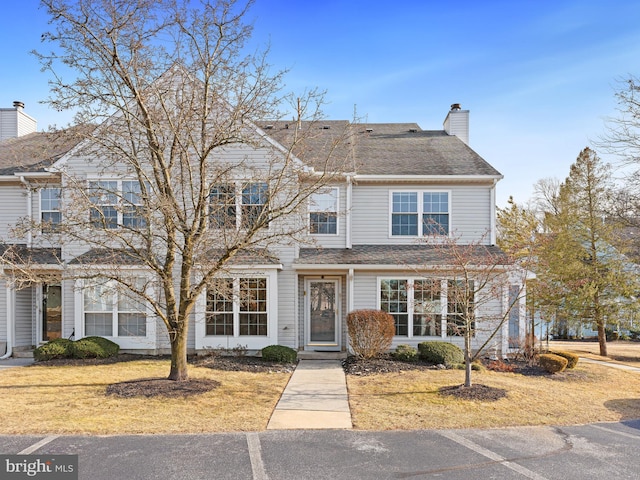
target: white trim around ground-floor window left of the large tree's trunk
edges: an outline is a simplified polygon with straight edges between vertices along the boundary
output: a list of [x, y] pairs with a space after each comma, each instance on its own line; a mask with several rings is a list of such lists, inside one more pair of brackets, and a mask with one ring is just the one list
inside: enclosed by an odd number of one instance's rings
[[[148, 281], [152, 278], [150, 277], [148, 272], [140, 272], [130, 270], [128, 273], [134, 277], [144, 277]], [[73, 300], [74, 300], [74, 326], [75, 326], [75, 339], [78, 340], [80, 338], [84, 338], [85, 335], [85, 322], [84, 322], [84, 287], [85, 285], [89, 285], [91, 281], [85, 279], [77, 279], [74, 283], [73, 288]], [[154, 295], [154, 287], [153, 282], [149, 282], [147, 285], [147, 295], [153, 297]], [[156, 316], [151, 306], [148, 302], [145, 302], [146, 305], [146, 316], [147, 316], [147, 334], [144, 337], [120, 337], [117, 335], [118, 325], [117, 319], [115, 317], [112, 318], [113, 321], [113, 333], [116, 335], [113, 336], [104, 336], [111, 340], [112, 342], [120, 345], [121, 349], [126, 350], [136, 350], [136, 349], [155, 349], [156, 348]]]

